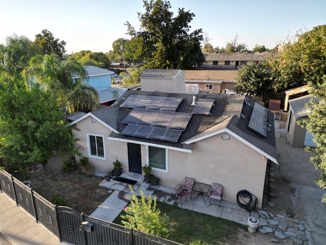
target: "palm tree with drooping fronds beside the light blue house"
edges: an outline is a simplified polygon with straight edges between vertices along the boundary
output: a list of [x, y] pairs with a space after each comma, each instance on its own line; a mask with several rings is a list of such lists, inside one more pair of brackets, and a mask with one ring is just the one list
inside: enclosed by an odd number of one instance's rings
[[76, 61], [60, 61], [55, 54], [37, 55], [31, 59], [24, 74], [29, 81], [40, 83], [45, 90], [57, 94], [62, 111], [67, 107], [70, 112], [91, 111], [97, 106], [98, 93], [91, 85], [82, 84], [88, 80], [88, 73]]

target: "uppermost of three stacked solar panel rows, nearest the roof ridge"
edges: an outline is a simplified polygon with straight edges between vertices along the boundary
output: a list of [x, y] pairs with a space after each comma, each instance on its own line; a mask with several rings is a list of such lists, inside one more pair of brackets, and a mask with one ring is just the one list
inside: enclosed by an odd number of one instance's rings
[[182, 98], [131, 94], [120, 107], [176, 111]]

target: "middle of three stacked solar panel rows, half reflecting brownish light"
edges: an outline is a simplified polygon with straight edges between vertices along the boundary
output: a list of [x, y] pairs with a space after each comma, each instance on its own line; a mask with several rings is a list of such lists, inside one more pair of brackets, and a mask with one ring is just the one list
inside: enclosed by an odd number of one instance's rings
[[191, 113], [135, 108], [122, 123], [184, 131], [191, 117]]

